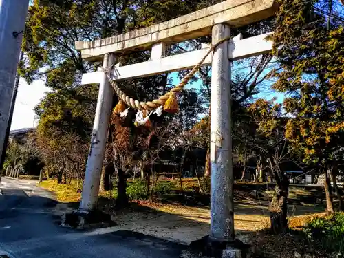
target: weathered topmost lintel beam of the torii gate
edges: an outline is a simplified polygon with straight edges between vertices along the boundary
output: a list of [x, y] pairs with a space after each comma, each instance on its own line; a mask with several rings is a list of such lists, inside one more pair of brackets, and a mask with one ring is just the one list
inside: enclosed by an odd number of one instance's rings
[[164, 23], [106, 39], [76, 41], [75, 45], [83, 58], [96, 61], [110, 52], [127, 54], [147, 50], [158, 42], [173, 44], [206, 36], [217, 23], [228, 23], [232, 27], [248, 25], [271, 17], [276, 10], [275, 0], [227, 0]]

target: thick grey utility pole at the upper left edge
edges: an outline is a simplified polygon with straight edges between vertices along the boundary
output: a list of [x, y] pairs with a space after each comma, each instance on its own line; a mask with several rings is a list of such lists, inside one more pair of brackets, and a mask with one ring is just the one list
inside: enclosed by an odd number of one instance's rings
[[0, 0], [0, 157], [6, 149], [6, 129], [28, 6], [29, 0]]

